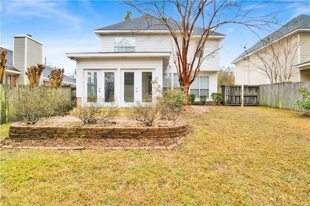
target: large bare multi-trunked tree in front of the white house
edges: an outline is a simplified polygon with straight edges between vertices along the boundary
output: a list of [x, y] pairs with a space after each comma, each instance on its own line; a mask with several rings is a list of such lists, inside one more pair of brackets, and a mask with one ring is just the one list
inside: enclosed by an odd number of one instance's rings
[[[244, 1], [216, 1], [216, 0], [155, 0], [155, 1], [132, 1], [124, 2], [143, 15], [152, 15], [165, 25], [170, 32], [172, 42], [176, 46], [173, 51], [174, 64], [177, 68], [181, 89], [188, 99], [188, 89], [197, 77], [202, 61], [212, 56], [219, 48], [209, 48], [207, 38], [219, 27], [234, 23], [242, 24], [253, 31], [254, 28], [268, 29], [273, 23], [278, 23], [278, 12], [268, 15], [257, 15], [253, 11], [263, 4], [273, 3], [258, 1], [250, 8], [246, 8]], [[177, 13], [181, 21], [173, 20], [172, 14]], [[173, 25], [171, 26], [171, 21]], [[202, 31], [196, 34], [195, 24], [202, 24]], [[253, 31], [254, 32], [254, 31]], [[191, 38], [198, 38], [194, 55], [189, 56], [189, 43]], [[207, 50], [206, 50], [207, 51]]]

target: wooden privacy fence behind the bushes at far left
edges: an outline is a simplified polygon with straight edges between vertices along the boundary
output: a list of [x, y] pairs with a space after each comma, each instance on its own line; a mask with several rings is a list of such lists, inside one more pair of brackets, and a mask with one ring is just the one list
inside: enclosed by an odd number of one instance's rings
[[[30, 85], [0, 85], [0, 124], [8, 122], [10, 117], [12, 117], [12, 108], [14, 108], [14, 102], [10, 101], [10, 94], [16, 94], [19, 90], [27, 90]], [[48, 89], [52, 90], [55, 94], [58, 91], [64, 93], [67, 98], [67, 104], [70, 106], [76, 106], [76, 101], [74, 102], [72, 88], [69, 87], [47, 87]], [[75, 104], [74, 104], [75, 103]]]

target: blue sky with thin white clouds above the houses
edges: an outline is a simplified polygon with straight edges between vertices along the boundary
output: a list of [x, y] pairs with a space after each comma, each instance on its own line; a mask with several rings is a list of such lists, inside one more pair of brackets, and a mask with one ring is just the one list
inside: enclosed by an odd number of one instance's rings
[[[310, 15], [307, 3], [278, 2], [284, 3], [263, 5], [254, 10], [253, 15], [281, 11], [277, 16], [281, 25], [299, 15]], [[243, 8], [256, 3], [247, 0]], [[123, 21], [127, 10], [132, 12], [132, 18], [141, 16], [118, 0], [0, 0], [0, 46], [13, 50], [13, 35], [30, 34], [43, 43], [42, 62], [46, 58], [47, 64], [70, 72], [76, 68], [76, 62], [66, 58], [65, 53], [99, 52], [100, 41], [93, 30]], [[181, 20], [177, 14], [172, 16]], [[280, 24], [273, 25], [272, 29], [279, 29]], [[220, 66], [233, 66], [231, 62], [244, 51], [245, 45], [250, 48], [272, 29], [254, 28], [254, 34], [243, 25], [227, 24], [218, 28], [217, 32], [226, 35], [220, 43]]]

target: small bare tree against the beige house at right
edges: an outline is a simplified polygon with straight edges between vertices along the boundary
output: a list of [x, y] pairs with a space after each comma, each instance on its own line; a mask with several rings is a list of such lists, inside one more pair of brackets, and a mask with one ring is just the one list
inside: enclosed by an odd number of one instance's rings
[[250, 70], [266, 74], [272, 84], [289, 82], [301, 42], [294, 39], [292, 34], [278, 34], [275, 40], [270, 38], [261, 40], [262, 48], [255, 50], [247, 59]]

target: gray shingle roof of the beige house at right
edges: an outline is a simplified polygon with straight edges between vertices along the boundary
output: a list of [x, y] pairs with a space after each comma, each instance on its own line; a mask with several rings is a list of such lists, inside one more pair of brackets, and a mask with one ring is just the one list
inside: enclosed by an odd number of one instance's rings
[[291, 21], [286, 23], [283, 27], [269, 34], [268, 36], [263, 38], [261, 41], [257, 42], [252, 47], [244, 51], [241, 55], [239, 55], [236, 59], [234, 59], [233, 62], [248, 55], [251, 52], [254, 52], [255, 50], [259, 48], [262, 48], [264, 45], [267, 45], [279, 39], [280, 37], [288, 33], [291, 33], [292, 31], [296, 29], [310, 29], [310, 15], [299, 15], [296, 18], [293, 18]]

